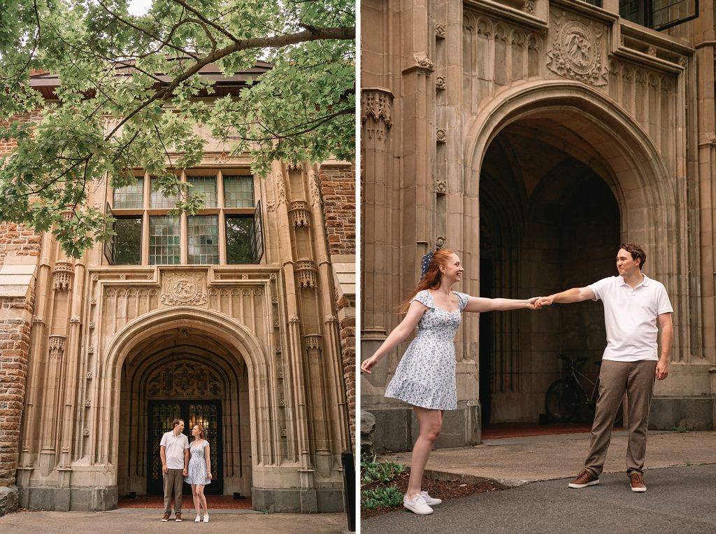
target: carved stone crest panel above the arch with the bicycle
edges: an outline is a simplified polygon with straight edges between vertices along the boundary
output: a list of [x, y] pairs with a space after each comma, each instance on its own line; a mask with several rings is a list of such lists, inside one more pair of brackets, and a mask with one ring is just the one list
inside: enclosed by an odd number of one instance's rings
[[606, 32], [604, 26], [584, 22], [566, 11], [552, 11], [554, 22], [547, 67], [556, 74], [589, 83], [606, 85]]

